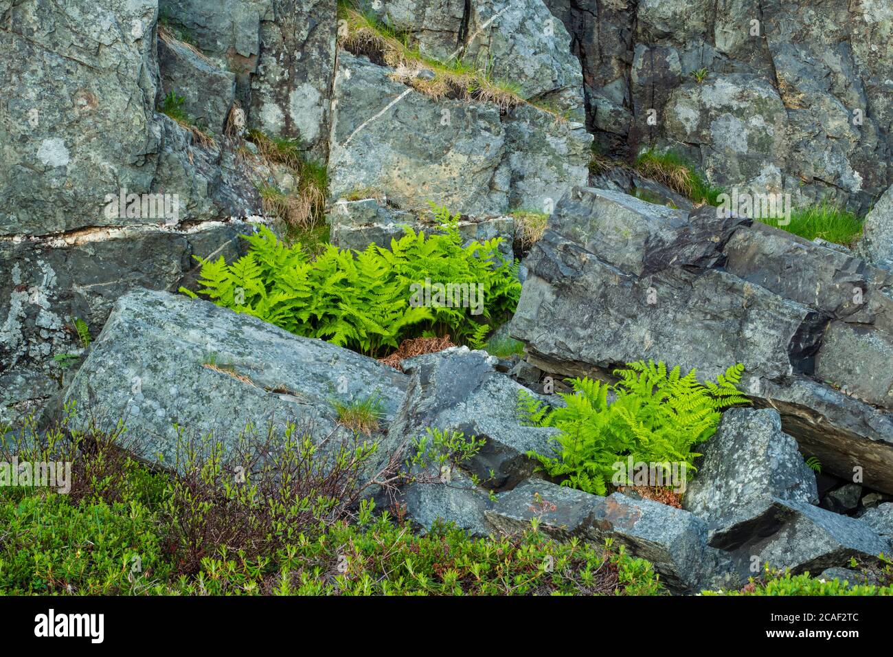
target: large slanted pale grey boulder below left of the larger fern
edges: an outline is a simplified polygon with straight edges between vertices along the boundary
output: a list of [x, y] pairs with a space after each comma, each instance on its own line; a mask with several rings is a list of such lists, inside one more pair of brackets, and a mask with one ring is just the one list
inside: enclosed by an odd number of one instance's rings
[[371, 358], [255, 317], [135, 290], [117, 300], [65, 400], [78, 402], [80, 422], [93, 417], [107, 427], [124, 418], [129, 432], [146, 438], [139, 456], [154, 461], [160, 453], [171, 463], [175, 423], [230, 448], [248, 423], [263, 435], [293, 422], [318, 440], [344, 438], [333, 402], [376, 394], [387, 430], [407, 383]]

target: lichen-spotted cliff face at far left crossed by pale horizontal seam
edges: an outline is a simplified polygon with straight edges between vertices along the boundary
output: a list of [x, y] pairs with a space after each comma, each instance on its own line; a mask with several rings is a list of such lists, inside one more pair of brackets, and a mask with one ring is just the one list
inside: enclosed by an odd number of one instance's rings
[[19, 91], [0, 115], [0, 417], [12, 420], [58, 391], [52, 358], [78, 351], [74, 317], [96, 335], [131, 286], [176, 289], [193, 256], [237, 256], [260, 199], [230, 149], [155, 112], [175, 84], [221, 131], [232, 76], [179, 42], [161, 46], [162, 76], [154, 0], [6, 9], [0, 89]]

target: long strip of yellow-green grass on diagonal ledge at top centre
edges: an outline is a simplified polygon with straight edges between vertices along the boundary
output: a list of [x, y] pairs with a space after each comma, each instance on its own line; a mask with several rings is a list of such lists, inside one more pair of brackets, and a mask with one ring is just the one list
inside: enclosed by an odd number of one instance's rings
[[395, 70], [396, 80], [433, 98], [460, 98], [498, 105], [507, 112], [517, 105], [532, 105], [552, 114], [556, 122], [566, 115], [547, 104], [531, 103], [522, 97], [522, 88], [494, 77], [492, 68], [474, 66], [459, 56], [448, 62], [423, 55], [411, 46], [409, 35], [395, 25], [383, 23], [373, 13], [362, 12], [348, 3], [338, 5], [341, 46], [355, 55], [367, 55]]

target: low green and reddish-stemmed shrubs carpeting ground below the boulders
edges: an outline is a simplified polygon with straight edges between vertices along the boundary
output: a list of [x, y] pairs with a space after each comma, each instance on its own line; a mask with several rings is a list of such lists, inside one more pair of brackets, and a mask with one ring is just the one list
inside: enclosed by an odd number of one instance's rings
[[[536, 530], [472, 539], [440, 523], [413, 534], [357, 501], [366, 442], [323, 454], [291, 431], [258, 445], [271, 457], [258, 462], [181, 435], [166, 475], [112, 450], [120, 432], [91, 434], [82, 449], [64, 427], [24, 429], [2, 457], [71, 459], [76, 488], [0, 487], [0, 594], [665, 593], [651, 565], [622, 548]], [[432, 431], [424, 453], [461, 458], [472, 443]]]

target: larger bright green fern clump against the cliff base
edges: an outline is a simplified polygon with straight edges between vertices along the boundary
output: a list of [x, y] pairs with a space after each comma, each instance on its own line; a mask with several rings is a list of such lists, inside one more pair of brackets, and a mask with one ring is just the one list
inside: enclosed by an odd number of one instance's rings
[[[438, 218], [448, 216], [438, 208]], [[199, 293], [291, 333], [370, 355], [426, 332], [479, 340], [482, 324], [472, 319], [471, 308], [411, 304], [413, 283], [477, 283], [484, 319], [513, 312], [521, 294], [517, 265], [499, 253], [498, 238], [463, 247], [456, 222], [457, 216], [450, 217], [442, 234], [427, 237], [408, 229], [391, 241], [390, 250], [375, 244], [362, 252], [327, 245], [313, 262], [300, 242], [286, 247], [262, 227], [260, 234], [246, 237], [251, 244], [246, 256], [230, 265], [223, 257], [198, 258]]]

